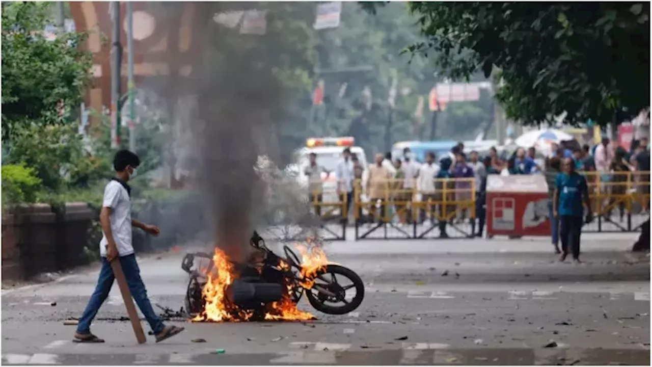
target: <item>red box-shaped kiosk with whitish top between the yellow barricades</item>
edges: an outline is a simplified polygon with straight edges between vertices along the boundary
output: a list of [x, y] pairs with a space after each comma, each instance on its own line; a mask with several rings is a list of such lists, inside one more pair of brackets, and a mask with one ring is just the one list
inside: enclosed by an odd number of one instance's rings
[[488, 236], [550, 236], [544, 176], [490, 175], [486, 190]]

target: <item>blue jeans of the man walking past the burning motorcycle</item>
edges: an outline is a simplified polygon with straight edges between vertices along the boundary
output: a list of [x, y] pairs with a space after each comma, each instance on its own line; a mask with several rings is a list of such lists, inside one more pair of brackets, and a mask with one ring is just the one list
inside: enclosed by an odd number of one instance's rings
[[[136, 263], [136, 255], [126, 255], [119, 257], [119, 259], [123, 272], [125, 273], [129, 291], [131, 292], [132, 297], [134, 297], [134, 300], [136, 300], [138, 308], [140, 308], [140, 311], [145, 315], [145, 319], [152, 328], [152, 331], [155, 334], [162, 332], [164, 328], [163, 321], [161, 321], [160, 317], [156, 315], [156, 312], [152, 308], [152, 304], [149, 302], [149, 298], [147, 298], [145, 284], [143, 284], [143, 279], [140, 278], [140, 268], [138, 268], [138, 263]], [[109, 296], [111, 286], [113, 285], [113, 279], [115, 279], [115, 276], [113, 276], [111, 263], [106, 261], [106, 258], [102, 257], [100, 276], [97, 279], [95, 291], [93, 291], [93, 295], [91, 295], [91, 299], [88, 301], [88, 305], [83, 311], [82, 318], [77, 325], [78, 333], [88, 334], [91, 332], [91, 322], [95, 319], [95, 315], [97, 315], [97, 311], [100, 310], [100, 306], [102, 306], [106, 297]]]

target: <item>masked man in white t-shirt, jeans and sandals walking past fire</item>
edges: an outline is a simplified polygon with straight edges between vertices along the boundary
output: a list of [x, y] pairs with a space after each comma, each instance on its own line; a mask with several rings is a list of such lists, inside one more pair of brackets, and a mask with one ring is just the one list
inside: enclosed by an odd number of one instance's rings
[[100, 212], [100, 223], [102, 224], [102, 240], [100, 241], [100, 256], [102, 257], [102, 268], [100, 276], [91, 299], [88, 302], [82, 317], [79, 320], [77, 330], [74, 334], [74, 342], [79, 343], [104, 343], [104, 340], [91, 334], [91, 323], [100, 310], [100, 306], [106, 300], [111, 291], [113, 280], [113, 269], [111, 261], [120, 261], [129, 291], [136, 300], [138, 308], [147, 319], [156, 337], [156, 342], [166, 340], [182, 332], [184, 328], [165, 326], [152, 308], [147, 291], [140, 278], [140, 269], [136, 263], [134, 246], [132, 245], [132, 227], [138, 227], [143, 231], [158, 236], [160, 230], [155, 225], [142, 223], [131, 217], [131, 187], [127, 181], [136, 175], [136, 168], [140, 165], [140, 159], [136, 153], [128, 150], [120, 150], [113, 157], [113, 168], [115, 177], [106, 184], [104, 188], [104, 199]]

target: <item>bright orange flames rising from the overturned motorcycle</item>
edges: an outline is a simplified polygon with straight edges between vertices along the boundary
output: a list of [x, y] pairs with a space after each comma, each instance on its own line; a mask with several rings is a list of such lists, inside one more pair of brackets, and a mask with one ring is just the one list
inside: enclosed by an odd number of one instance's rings
[[[301, 287], [306, 289], [312, 287], [314, 278], [320, 270], [327, 266], [327, 257], [318, 247], [308, 249], [305, 246], [297, 246], [302, 257]], [[312, 313], [301, 311], [297, 304], [291, 299], [295, 291], [293, 285], [287, 285], [288, 291], [281, 300], [271, 302], [264, 307], [264, 317], [252, 310], [244, 310], [228, 299], [227, 289], [237, 279], [237, 273], [228, 256], [221, 249], [215, 249], [213, 255], [214, 268], [207, 273], [207, 283], [203, 287], [202, 296], [205, 300], [203, 311], [191, 321], [306, 321], [315, 319]], [[281, 268], [289, 268], [289, 264], [282, 262]]]

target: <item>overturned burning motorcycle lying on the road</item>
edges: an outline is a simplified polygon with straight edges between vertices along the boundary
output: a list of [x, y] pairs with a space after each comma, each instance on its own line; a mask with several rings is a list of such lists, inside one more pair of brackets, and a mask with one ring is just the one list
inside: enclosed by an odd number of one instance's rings
[[[353, 270], [329, 263], [321, 249], [299, 247], [303, 261], [290, 247], [276, 255], [257, 232], [250, 239], [259, 261], [235, 263], [216, 249], [215, 255], [188, 253], [181, 268], [190, 276], [185, 307], [194, 321], [312, 319], [297, 309], [305, 294], [316, 310], [349, 313], [364, 298], [364, 283]], [[196, 259], [205, 266], [195, 266]], [[355, 295], [347, 291], [355, 289]]]

